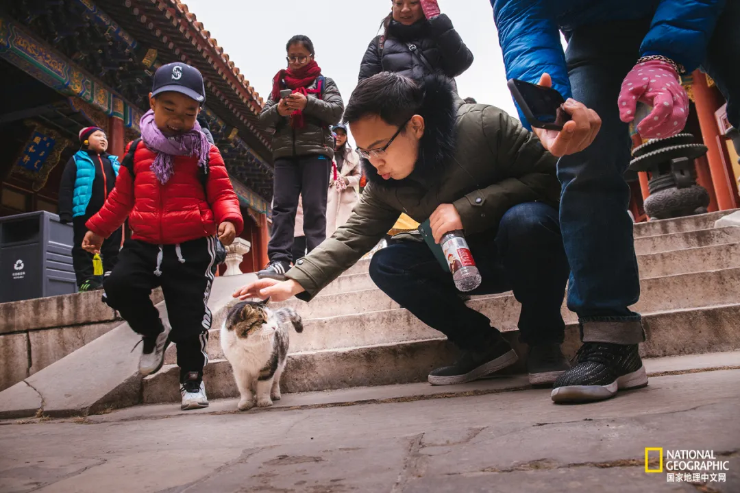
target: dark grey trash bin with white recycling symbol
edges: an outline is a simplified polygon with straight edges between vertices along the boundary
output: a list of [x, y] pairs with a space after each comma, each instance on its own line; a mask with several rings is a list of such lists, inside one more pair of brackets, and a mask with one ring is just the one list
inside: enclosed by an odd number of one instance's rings
[[0, 218], [0, 303], [76, 292], [73, 236], [50, 212]]

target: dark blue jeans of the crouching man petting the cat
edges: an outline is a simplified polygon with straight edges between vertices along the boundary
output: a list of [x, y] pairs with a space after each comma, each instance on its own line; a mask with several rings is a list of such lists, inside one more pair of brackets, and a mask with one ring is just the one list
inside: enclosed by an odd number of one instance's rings
[[[512, 207], [498, 229], [466, 238], [482, 284], [471, 295], [514, 290], [522, 303], [520, 341], [562, 343], [560, 312], [568, 281], [557, 211], [532, 202]], [[375, 253], [370, 277], [390, 298], [461, 349], [480, 349], [501, 337], [485, 315], [468, 308], [425, 243], [401, 241]]]

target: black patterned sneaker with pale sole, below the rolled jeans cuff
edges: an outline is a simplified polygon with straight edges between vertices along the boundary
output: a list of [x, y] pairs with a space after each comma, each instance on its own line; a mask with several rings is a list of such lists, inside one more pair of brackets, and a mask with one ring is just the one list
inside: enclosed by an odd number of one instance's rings
[[647, 385], [638, 344], [583, 343], [576, 358], [576, 366], [555, 380], [551, 398], [556, 403], [604, 400], [617, 390]]

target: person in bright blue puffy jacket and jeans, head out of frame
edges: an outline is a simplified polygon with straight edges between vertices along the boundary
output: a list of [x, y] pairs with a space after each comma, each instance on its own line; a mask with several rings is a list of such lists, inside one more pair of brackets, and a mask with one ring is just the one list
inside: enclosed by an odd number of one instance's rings
[[[639, 273], [627, 213], [628, 122], [636, 104], [653, 107], [639, 122], [645, 138], [679, 133], [688, 99], [679, 75], [702, 67], [740, 125], [740, 1], [491, 0], [507, 78], [552, 86], [565, 110], [589, 118], [561, 132], [534, 129], [561, 157], [560, 224], [571, 265], [568, 308], [581, 323], [578, 360], [554, 383], [555, 402], [610, 398], [647, 385], [639, 357], [645, 332]], [[723, 11], [724, 10], [724, 11]], [[568, 41], [565, 53], [560, 33]], [[576, 101], [578, 103], [576, 104]], [[525, 126], [527, 121], [519, 111]], [[573, 117], [576, 120], [575, 116]]]

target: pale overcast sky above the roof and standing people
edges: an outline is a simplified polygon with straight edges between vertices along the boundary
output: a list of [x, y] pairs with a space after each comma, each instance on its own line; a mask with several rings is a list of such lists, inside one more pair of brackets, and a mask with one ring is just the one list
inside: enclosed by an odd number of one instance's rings
[[[272, 77], [285, 67], [285, 44], [295, 34], [314, 42], [323, 74], [337, 82], [346, 102], [357, 84], [360, 61], [390, 0], [184, 0], [189, 10], [267, 99]], [[457, 78], [460, 95], [494, 104], [516, 116], [506, 88], [493, 10], [488, 0], [440, 0], [475, 56]]]

